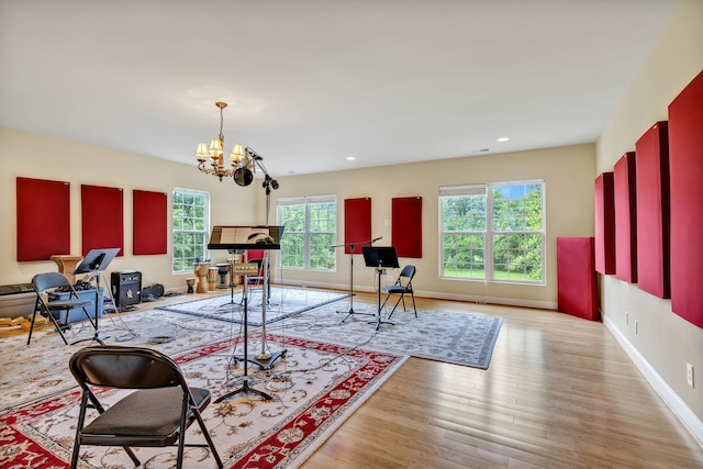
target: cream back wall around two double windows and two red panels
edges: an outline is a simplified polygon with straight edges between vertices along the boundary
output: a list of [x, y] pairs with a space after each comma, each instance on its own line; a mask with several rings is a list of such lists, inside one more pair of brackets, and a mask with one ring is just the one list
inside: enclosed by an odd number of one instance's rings
[[[422, 258], [401, 258], [414, 264], [413, 286], [424, 297], [531, 305], [556, 309], [557, 236], [592, 236], [593, 233], [593, 145], [546, 148], [492, 156], [442, 159], [421, 164], [279, 178], [275, 198], [335, 193], [338, 208], [344, 199], [371, 198], [371, 234], [383, 236], [377, 245], [391, 245], [391, 199], [420, 196], [423, 199]], [[544, 179], [547, 199], [547, 270], [545, 286], [439, 278], [438, 201], [440, 186]], [[275, 203], [275, 202], [274, 202]], [[344, 243], [344, 213], [338, 210], [339, 237]], [[360, 257], [360, 256], [357, 256]], [[334, 288], [349, 286], [349, 256], [337, 249], [337, 271], [319, 272], [284, 269], [279, 272], [289, 282]], [[373, 269], [355, 260], [355, 289], [372, 291]]]

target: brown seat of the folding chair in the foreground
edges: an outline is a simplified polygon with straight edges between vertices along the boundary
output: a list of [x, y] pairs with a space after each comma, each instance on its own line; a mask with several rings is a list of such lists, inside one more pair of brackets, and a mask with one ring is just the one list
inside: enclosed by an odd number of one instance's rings
[[[190, 388], [190, 391], [199, 410], [210, 403], [207, 389]], [[135, 391], [87, 425], [82, 431], [82, 443], [129, 446], [130, 438], [135, 438], [144, 446], [145, 437], [150, 437], [154, 446], [170, 445], [178, 439], [180, 431], [180, 407], [174, 402], [182, 397], [181, 388]]]

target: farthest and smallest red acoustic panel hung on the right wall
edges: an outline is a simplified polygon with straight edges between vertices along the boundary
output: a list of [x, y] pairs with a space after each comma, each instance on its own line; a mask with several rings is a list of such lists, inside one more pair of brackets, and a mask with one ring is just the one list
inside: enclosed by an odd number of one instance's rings
[[615, 273], [615, 196], [613, 174], [595, 178], [595, 271]]

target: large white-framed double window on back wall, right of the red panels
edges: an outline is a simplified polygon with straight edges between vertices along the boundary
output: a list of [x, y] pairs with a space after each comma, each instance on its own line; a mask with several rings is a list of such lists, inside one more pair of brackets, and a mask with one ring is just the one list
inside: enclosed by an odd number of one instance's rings
[[544, 181], [439, 189], [442, 277], [544, 282]]

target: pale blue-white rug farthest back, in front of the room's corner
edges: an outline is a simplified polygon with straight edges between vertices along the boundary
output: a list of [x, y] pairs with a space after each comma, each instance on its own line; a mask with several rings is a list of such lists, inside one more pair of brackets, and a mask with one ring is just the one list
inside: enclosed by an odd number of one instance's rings
[[[288, 317], [342, 301], [349, 297], [349, 293], [335, 291], [271, 287], [271, 293], [268, 297], [266, 306], [266, 324], [283, 321]], [[264, 324], [261, 319], [264, 311], [261, 303], [261, 289], [250, 289], [247, 293], [248, 325], [260, 327]], [[157, 309], [237, 324], [244, 322], [244, 302], [242, 301], [241, 291], [235, 293], [230, 292], [214, 298], [187, 301], [169, 306], [158, 306]]]

